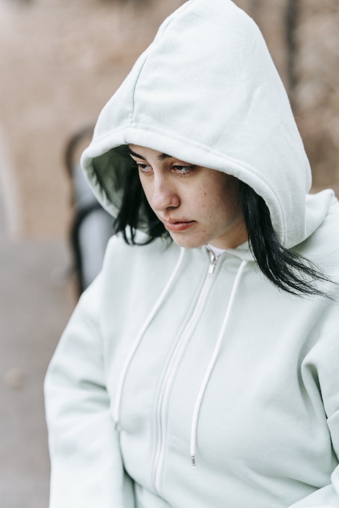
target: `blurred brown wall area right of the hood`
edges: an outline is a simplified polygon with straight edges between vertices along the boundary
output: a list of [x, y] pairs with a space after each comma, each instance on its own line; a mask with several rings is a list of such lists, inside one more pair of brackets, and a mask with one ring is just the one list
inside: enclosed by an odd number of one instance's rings
[[[309, 156], [312, 192], [334, 188], [339, 196], [339, 4], [337, 0], [239, 0], [260, 26], [289, 92]], [[294, 72], [289, 81], [286, 14], [295, 23]]]

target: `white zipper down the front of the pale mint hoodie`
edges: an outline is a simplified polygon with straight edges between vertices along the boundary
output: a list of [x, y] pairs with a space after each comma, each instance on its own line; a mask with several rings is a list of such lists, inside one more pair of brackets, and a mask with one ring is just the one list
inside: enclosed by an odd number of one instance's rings
[[207, 276], [205, 278], [204, 285], [200, 292], [200, 296], [198, 302], [195, 306], [193, 314], [191, 316], [190, 321], [184, 328], [176, 346], [174, 352], [172, 354], [172, 358], [170, 360], [169, 366], [167, 368], [163, 384], [161, 387], [159, 400], [158, 400], [158, 408], [157, 408], [157, 428], [158, 428], [158, 443], [157, 443], [157, 452], [155, 461], [153, 464], [153, 474], [152, 474], [152, 484], [155, 491], [160, 494], [160, 479], [161, 479], [161, 465], [163, 463], [164, 454], [165, 454], [165, 423], [164, 423], [164, 412], [166, 403], [168, 401], [169, 390], [172, 386], [173, 379], [175, 377], [175, 372], [178, 367], [179, 360], [181, 359], [181, 354], [189, 342], [192, 330], [194, 329], [196, 322], [198, 321], [202, 307], [204, 306], [207, 296], [209, 294], [209, 290], [213, 281], [213, 274], [215, 272], [215, 267], [218, 264], [218, 260], [220, 256], [215, 256], [214, 252], [212, 252], [208, 247], [206, 247], [209, 253], [209, 266], [207, 271]]

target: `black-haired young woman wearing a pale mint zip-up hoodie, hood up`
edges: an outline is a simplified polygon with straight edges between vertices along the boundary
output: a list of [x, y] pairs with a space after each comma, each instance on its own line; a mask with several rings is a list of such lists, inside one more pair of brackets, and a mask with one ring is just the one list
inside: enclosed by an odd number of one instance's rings
[[255, 23], [186, 2], [82, 166], [117, 234], [47, 372], [50, 508], [339, 506], [339, 205]]

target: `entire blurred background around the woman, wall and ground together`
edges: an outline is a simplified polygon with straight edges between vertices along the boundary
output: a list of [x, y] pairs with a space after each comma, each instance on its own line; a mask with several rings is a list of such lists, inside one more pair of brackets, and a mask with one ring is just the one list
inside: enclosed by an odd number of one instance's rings
[[[183, 3], [0, 0], [4, 508], [48, 506], [43, 378], [79, 292], [100, 267], [110, 234], [111, 220], [83, 186], [80, 153], [103, 105], [159, 24]], [[332, 187], [338, 195], [338, 1], [235, 3], [260, 26], [289, 92], [312, 166], [313, 191]]]

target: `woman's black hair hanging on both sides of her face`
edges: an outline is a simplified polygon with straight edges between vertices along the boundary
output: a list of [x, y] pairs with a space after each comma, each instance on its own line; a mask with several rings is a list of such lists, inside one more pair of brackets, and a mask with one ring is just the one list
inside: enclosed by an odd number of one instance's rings
[[[249, 245], [262, 273], [280, 290], [292, 295], [326, 297], [316, 283], [329, 279], [312, 263], [292, 249], [283, 247], [274, 232], [268, 207], [252, 187], [239, 180], [239, 199]], [[148, 238], [135, 239], [140, 218], [146, 222]], [[127, 243], [146, 245], [156, 238], [171, 241], [168, 231], [150, 208], [135, 167], [126, 171], [122, 203], [114, 222], [115, 233], [121, 232]]]

